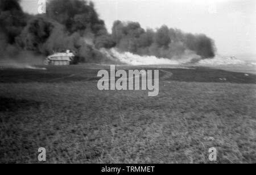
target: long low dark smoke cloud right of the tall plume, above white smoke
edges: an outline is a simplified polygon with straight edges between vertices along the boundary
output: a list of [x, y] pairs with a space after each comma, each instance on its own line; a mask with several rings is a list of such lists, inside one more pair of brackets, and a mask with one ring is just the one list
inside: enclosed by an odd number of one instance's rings
[[162, 26], [156, 31], [144, 30], [136, 22], [114, 22], [114, 41], [121, 51], [172, 59], [186, 50], [194, 51], [203, 59], [214, 57], [214, 41], [207, 36], [185, 34], [180, 30]]

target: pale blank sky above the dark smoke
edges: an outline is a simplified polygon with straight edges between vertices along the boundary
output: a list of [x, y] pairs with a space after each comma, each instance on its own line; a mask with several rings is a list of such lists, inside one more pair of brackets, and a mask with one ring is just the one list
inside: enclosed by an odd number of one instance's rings
[[[22, 0], [24, 11], [36, 14], [39, 0]], [[255, 0], [93, 0], [109, 32], [115, 20], [166, 24], [212, 38], [223, 56], [256, 60]]]

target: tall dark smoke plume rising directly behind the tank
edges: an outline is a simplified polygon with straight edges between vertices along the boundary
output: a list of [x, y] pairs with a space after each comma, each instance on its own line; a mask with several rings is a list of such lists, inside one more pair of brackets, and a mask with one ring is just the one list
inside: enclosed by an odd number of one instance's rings
[[43, 55], [70, 49], [80, 61], [100, 62], [103, 55], [96, 48], [113, 47], [111, 40], [92, 2], [52, 0], [47, 4], [46, 15], [36, 15], [28, 21], [16, 44]]

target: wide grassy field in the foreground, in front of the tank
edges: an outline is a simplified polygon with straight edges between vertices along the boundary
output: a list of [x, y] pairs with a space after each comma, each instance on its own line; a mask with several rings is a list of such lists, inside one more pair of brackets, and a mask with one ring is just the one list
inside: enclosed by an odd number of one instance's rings
[[102, 68], [0, 69], [0, 163], [256, 163], [256, 75], [165, 68], [148, 97], [98, 90]]

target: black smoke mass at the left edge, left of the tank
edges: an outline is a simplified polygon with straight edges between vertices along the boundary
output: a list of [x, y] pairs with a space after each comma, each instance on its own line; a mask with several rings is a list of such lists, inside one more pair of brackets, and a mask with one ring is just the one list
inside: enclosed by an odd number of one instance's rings
[[24, 13], [19, 0], [0, 0], [0, 65], [24, 67], [26, 62], [42, 63], [34, 53], [16, 44], [17, 37], [27, 25], [30, 15]]

